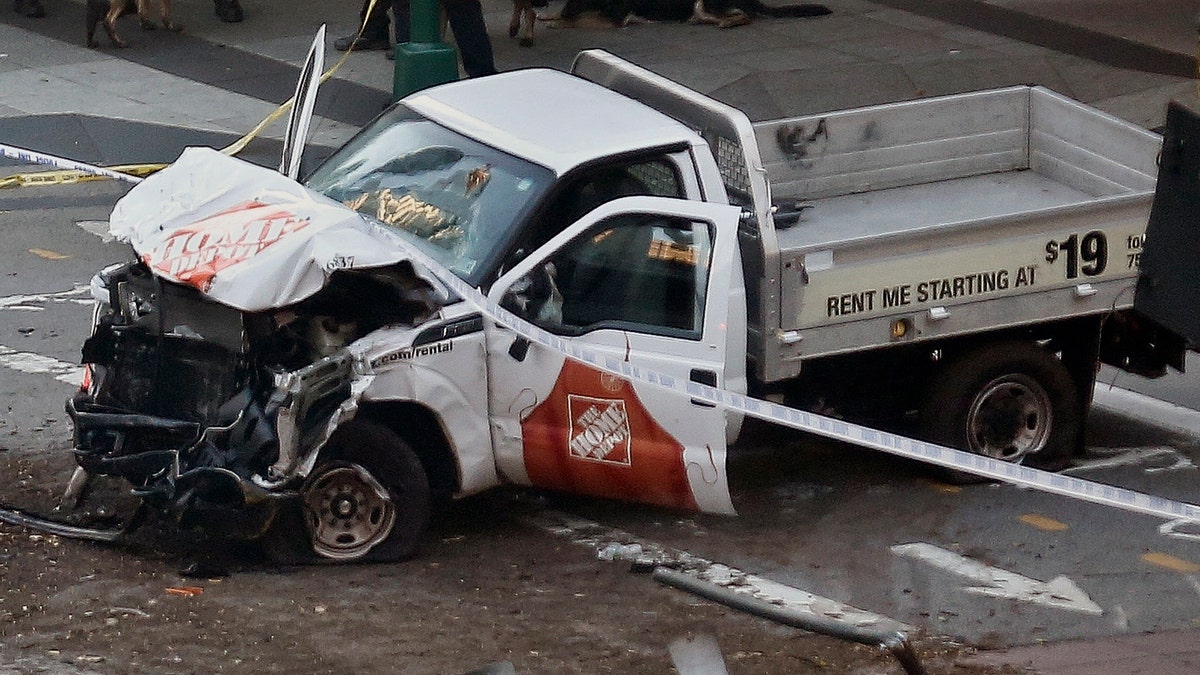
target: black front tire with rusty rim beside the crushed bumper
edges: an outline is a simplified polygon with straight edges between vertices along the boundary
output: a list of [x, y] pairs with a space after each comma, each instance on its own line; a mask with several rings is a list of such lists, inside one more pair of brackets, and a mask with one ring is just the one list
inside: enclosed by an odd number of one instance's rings
[[276, 560], [289, 550], [281, 545], [288, 539], [307, 540], [317, 560], [404, 560], [420, 546], [432, 510], [416, 454], [390, 429], [367, 422], [334, 432], [295, 507], [269, 534], [266, 551]]

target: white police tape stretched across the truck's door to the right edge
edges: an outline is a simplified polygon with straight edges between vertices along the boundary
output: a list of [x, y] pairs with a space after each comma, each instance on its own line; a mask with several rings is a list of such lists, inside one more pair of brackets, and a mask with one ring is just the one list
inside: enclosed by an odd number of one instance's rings
[[553, 335], [524, 321], [488, 300], [478, 288], [470, 286], [409, 243], [388, 229], [384, 229], [384, 232], [409, 252], [416, 263], [428, 269], [440, 282], [498, 324], [512, 330], [532, 344], [540, 345], [566, 358], [624, 380], [666, 389], [679, 396], [707, 401], [764, 422], [780, 424], [835, 441], [844, 441], [863, 448], [882, 450], [892, 455], [943, 468], [952, 468], [1021, 488], [1031, 488], [1122, 510], [1160, 516], [1176, 522], [1200, 522], [1200, 506], [1188, 502], [1168, 500], [1126, 488], [1117, 488], [1073, 476], [1062, 476], [1030, 466], [956, 450], [937, 443], [881, 431], [844, 419], [784, 406], [697, 382], [682, 381], [672, 375], [635, 366], [618, 358], [589, 350], [576, 341]]

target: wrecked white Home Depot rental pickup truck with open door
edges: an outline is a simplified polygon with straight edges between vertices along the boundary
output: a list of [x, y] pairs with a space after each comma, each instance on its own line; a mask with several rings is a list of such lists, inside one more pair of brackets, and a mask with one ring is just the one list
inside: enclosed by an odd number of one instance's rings
[[592, 50], [413, 94], [304, 185], [188, 150], [113, 213], [76, 455], [332, 560], [503, 483], [732, 513], [740, 417], [586, 346], [1052, 467], [1100, 360], [1182, 362], [1130, 309], [1159, 142], [1037, 86], [751, 124]]

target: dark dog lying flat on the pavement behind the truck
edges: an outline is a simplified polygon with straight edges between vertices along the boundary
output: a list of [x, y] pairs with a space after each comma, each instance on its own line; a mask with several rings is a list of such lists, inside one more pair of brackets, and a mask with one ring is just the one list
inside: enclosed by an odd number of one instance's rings
[[761, 0], [566, 0], [556, 25], [624, 28], [646, 22], [686, 22], [718, 28], [745, 25], [757, 17], [823, 17], [824, 5], [780, 5]]

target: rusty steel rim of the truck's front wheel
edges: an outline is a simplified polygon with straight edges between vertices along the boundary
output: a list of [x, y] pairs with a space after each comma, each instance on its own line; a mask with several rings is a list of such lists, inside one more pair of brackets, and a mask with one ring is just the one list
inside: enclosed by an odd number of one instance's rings
[[331, 560], [362, 557], [396, 524], [391, 495], [356, 464], [334, 465], [314, 476], [302, 500], [313, 551]]

